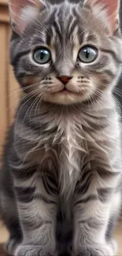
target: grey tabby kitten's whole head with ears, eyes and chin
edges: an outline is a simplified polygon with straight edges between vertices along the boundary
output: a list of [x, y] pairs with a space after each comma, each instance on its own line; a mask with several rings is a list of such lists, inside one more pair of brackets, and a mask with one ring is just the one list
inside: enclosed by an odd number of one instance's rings
[[83, 102], [120, 74], [119, 0], [9, 0], [11, 63], [24, 91], [46, 102]]

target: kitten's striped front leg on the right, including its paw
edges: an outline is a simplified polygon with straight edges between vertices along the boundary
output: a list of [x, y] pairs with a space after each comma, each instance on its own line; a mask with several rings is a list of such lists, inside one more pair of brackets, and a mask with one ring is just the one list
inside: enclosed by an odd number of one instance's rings
[[[106, 240], [110, 211], [113, 206], [116, 173], [86, 173], [74, 202], [75, 235], [73, 252], [80, 256], [113, 256], [113, 244]], [[100, 181], [100, 182], [99, 182]], [[119, 204], [120, 202], [118, 202]], [[114, 207], [114, 206], [113, 206]]]

